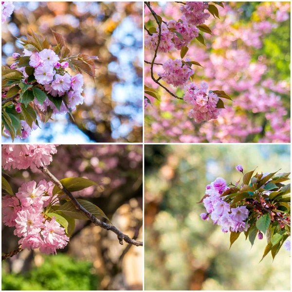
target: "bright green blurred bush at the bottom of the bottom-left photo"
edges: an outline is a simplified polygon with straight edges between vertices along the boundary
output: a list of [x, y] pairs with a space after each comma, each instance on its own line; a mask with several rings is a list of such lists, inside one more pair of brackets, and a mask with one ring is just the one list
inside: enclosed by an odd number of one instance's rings
[[7, 274], [2, 266], [2, 290], [96, 290], [99, 284], [91, 262], [62, 254], [45, 256], [40, 267], [26, 274]]

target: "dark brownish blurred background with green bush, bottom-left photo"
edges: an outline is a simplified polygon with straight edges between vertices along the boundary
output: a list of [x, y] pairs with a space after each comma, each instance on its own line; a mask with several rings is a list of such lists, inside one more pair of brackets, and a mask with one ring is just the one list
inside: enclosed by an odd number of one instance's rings
[[[59, 180], [85, 177], [98, 183], [101, 187], [73, 194], [96, 204], [119, 230], [142, 241], [142, 164], [140, 145], [71, 145], [58, 146], [48, 168]], [[30, 169], [2, 175], [15, 193], [22, 183], [46, 179]], [[3, 261], [2, 290], [142, 290], [143, 247], [120, 245], [114, 233], [89, 220], [75, 222], [69, 244], [57, 255], [24, 250]], [[18, 247], [13, 231], [2, 224], [2, 253]]]

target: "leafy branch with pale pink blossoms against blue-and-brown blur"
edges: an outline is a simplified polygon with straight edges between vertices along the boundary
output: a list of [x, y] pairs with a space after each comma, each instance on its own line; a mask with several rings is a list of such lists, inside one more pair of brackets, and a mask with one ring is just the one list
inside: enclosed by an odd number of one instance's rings
[[[2, 5], [3, 7], [3, 5]], [[65, 38], [52, 31], [56, 45], [32, 31], [26, 39], [20, 38], [23, 54], [13, 53], [14, 63], [2, 66], [2, 132], [25, 139], [47, 123], [53, 114], [72, 116], [76, 106], [83, 104], [82, 73], [95, 78], [96, 56], [71, 55]], [[76, 72], [70, 75], [71, 69]]]

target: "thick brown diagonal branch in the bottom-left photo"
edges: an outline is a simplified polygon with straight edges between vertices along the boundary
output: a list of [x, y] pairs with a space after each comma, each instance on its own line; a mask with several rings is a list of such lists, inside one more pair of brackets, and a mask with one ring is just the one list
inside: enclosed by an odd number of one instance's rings
[[125, 235], [124, 233], [122, 233], [120, 230], [118, 230], [115, 226], [107, 224], [106, 222], [103, 222], [99, 219], [97, 219], [94, 215], [92, 215], [90, 212], [88, 212], [84, 207], [82, 207], [80, 205], [80, 203], [73, 197], [73, 195], [71, 194], [71, 192], [69, 190], [66, 189], [66, 187], [64, 187], [62, 185], [62, 183], [55, 178], [55, 176], [48, 170], [47, 167], [45, 166], [40, 166], [37, 167], [44, 175], [46, 175], [51, 182], [55, 183], [55, 185], [58, 186], [58, 188], [60, 190], [63, 191], [63, 193], [65, 193], [70, 201], [72, 201], [74, 207], [76, 210], [82, 212], [84, 215], [86, 215], [88, 217], [88, 219], [91, 220], [92, 223], [94, 223], [96, 226], [99, 226], [101, 228], [104, 228], [106, 230], [110, 230], [113, 233], [115, 233], [119, 239], [120, 244], [123, 244], [123, 241], [126, 241], [129, 244], [133, 244], [136, 246], [143, 246], [143, 242], [142, 241], [137, 241], [135, 239], [132, 239], [130, 237], [128, 237], [128, 235]]

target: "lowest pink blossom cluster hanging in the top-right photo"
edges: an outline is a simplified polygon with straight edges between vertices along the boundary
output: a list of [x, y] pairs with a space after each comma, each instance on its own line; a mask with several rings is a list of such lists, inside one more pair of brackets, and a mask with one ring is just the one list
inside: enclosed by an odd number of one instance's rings
[[217, 108], [218, 95], [213, 92], [207, 93], [207, 90], [206, 82], [202, 82], [200, 88], [194, 83], [185, 86], [183, 100], [193, 107], [188, 116], [196, 123], [217, 119], [221, 112], [221, 109]]

